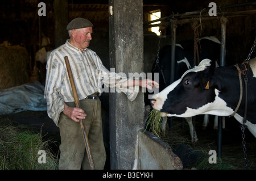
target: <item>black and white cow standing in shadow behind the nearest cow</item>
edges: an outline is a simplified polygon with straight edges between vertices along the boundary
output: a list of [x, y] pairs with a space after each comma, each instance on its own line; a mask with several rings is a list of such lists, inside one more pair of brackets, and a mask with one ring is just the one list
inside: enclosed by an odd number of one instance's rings
[[[216, 62], [220, 60], [220, 41], [214, 37], [203, 37], [197, 43], [199, 49], [199, 60], [194, 62], [194, 40], [180, 41], [175, 47], [175, 72], [174, 81], [179, 79], [181, 75], [188, 69], [193, 68], [194, 64], [198, 65], [201, 60], [209, 58]], [[158, 62], [152, 69], [152, 73], [158, 73], [159, 92], [171, 84], [171, 45], [166, 45], [159, 51]], [[154, 78], [154, 77], [153, 77]], [[189, 125], [189, 132], [193, 141], [193, 124], [192, 118], [187, 117], [186, 121]], [[209, 115], [204, 116], [203, 127], [207, 127], [209, 123]], [[217, 116], [214, 118], [214, 129], [217, 129]], [[195, 141], [198, 141], [195, 134]]]

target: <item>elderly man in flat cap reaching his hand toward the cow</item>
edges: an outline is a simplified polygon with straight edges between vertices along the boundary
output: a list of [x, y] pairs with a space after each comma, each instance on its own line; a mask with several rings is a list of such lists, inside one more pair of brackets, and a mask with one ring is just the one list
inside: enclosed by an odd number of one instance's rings
[[[84, 18], [75, 18], [67, 25], [70, 39], [56, 48], [47, 61], [44, 98], [48, 116], [60, 128], [59, 169], [90, 169], [79, 119], [85, 119], [86, 132], [95, 169], [104, 169], [106, 153], [102, 134], [101, 83], [124, 92], [131, 101], [138, 91], [135, 87], [153, 89], [158, 83], [150, 79], [127, 79], [110, 73], [100, 57], [87, 48], [92, 40], [93, 24]], [[64, 57], [71, 65], [81, 108], [76, 108]], [[133, 91], [130, 91], [133, 90]], [[138, 90], [138, 89], [135, 89]]]

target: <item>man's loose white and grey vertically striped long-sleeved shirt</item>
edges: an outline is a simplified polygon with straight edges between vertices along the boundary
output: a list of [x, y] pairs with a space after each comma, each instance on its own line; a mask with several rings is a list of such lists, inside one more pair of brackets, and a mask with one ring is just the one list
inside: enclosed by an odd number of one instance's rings
[[69, 43], [56, 48], [47, 60], [46, 86], [44, 98], [47, 102], [48, 116], [58, 126], [59, 115], [64, 110], [64, 102], [74, 102], [72, 88], [69, 82], [64, 57], [68, 56], [79, 100], [95, 92], [102, 93], [102, 85], [113, 88], [117, 92], [124, 92], [129, 100], [133, 101], [139, 87], [122, 87], [127, 82], [127, 77], [110, 72], [102, 64], [100, 57], [91, 49], [79, 48]]

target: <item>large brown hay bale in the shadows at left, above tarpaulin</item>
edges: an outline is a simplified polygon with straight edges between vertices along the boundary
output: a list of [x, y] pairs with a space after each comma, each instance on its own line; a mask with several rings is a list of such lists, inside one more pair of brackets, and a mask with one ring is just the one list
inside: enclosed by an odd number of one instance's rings
[[0, 90], [29, 82], [28, 52], [20, 46], [0, 46]]

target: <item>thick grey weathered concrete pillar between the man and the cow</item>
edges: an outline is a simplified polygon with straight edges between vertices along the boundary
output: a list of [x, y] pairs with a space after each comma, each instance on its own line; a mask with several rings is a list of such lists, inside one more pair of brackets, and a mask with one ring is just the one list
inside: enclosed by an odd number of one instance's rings
[[[109, 0], [110, 68], [116, 73], [143, 72], [143, 2]], [[144, 96], [130, 102], [110, 92], [110, 168], [132, 169], [139, 129], [143, 129]]]

